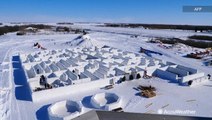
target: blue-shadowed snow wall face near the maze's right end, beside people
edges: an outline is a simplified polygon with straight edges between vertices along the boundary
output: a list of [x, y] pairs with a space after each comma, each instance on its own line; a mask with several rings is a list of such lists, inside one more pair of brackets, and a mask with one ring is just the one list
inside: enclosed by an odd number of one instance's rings
[[154, 72], [155, 76], [162, 78], [162, 79], [167, 79], [171, 80], [173, 82], [178, 82], [178, 75], [168, 72], [168, 71], [163, 71], [160, 69], [157, 69], [156, 72]]

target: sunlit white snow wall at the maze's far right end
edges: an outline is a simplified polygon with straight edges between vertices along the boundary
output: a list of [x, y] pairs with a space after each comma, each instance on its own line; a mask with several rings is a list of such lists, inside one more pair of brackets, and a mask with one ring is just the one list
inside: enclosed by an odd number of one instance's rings
[[185, 82], [188, 82], [190, 80], [196, 80], [196, 79], [204, 77], [204, 76], [205, 76], [205, 73], [203, 73], [203, 72], [197, 73], [197, 74], [193, 74], [193, 75], [188, 75], [188, 76], [183, 77], [180, 80], [180, 83], [185, 83]]

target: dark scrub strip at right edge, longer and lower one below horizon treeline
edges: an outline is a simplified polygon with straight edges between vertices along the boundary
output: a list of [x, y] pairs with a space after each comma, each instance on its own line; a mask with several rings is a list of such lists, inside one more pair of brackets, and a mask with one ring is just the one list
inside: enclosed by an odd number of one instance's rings
[[208, 48], [212, 47], [212, 42], [203, 42], [203, 41], [194, 41], [194, 40], [181, 40], [179, 38], [159, 38], [162, 43], [165, 44], [176, 44], [183, 43], [185, 45], [189, 45], [197, 48]]

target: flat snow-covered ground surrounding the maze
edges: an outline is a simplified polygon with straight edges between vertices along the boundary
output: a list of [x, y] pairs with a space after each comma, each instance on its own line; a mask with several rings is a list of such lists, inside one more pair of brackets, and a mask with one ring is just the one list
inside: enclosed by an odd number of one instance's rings
[[[164, 61], [171, 61], [189, 67], [194, 67], [203, 72], [212, 74], [211, 67], [205, 67], [200, 60], [183, 58], [176, 55], [176, 51], [158, 47], [156, 44], [146, 43], [145, 41], [153, 36], [179, 37], [196, 33], [185, 31], [170, 30], [143, 30], [129, 28], [103, 28], [90, 25], [77, 25], [74, 27], [89, 28], [88, 44], [109, 45], [122, 50], [138, 53], [140, 47], [163, 53], [163, 56], [154, 55], [153, 57]], [[131, 38], [131, 34], [141, 35], [138, 38]], [[198, 33], [200, 34], [200, 33]], [[85, 93], [76, 93], [58, 99], [49, 100], [42, 103], [33, 103], [26, 85], [26, 79], [19, 63], [18, 53], [30, 53], [39, 51], [33, 48], [35, 42], [39, 42], [47, 49], [64, 49], [78, 47], [77, 44], [71, 46], [67, 42], [75, 40], [79, 35], [75, 34], [55, 34], [55, 35], [26, 35], [16, 36], [10, 33], [0, 36], [0, 118], [11, 120], [32, 120], [47, 119], [47, 107], [56, 101], [73, 98], [82, 100], [86, 110], [90, 110], [88, 104], [91, 95], [105, 91], [103, 89], [90, 90]], [[155, 86], [157, 96], [146, 99], [138, 96], [138, 91], [134, 89], [139, 84]], [[115, 86], [107, 92], [115, 92], [123, 97], [123, 109], [126, 112], [157, 113], [165, 106], [167, 110], [194, 110], [193, 116], [212, 117], [212, 82], [201, 83], [196, 87], [182, 87], [175, 83], [168, 83], [166, 80], [153, 78], [151, 80], [139, 80], [125, 82]]]

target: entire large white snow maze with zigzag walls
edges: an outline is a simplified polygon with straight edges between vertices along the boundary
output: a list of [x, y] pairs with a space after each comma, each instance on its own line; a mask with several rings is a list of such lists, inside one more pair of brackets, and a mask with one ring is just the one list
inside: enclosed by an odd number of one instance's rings
[[[155, 75], [186, 85], [188, 82], [205, 80], [204, 73], [196, 69], [162, 63], [154, 58], [111, 47], [45, 50], [21, 54], [20, 58], [33, 102], [64, 97], [61, 94], [64, 91], [69, 95], [76, 90], [83, 92], [119, 84], [123, 78], [129, 81]], [[109, 95], [103, 96], [107, 98]], [[101, 100], [94, 98], [94, 101], [102, 107]], [[106, 106], [104, 109], [110, 108]]]

